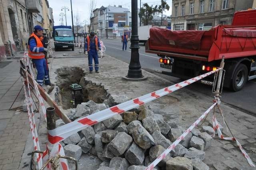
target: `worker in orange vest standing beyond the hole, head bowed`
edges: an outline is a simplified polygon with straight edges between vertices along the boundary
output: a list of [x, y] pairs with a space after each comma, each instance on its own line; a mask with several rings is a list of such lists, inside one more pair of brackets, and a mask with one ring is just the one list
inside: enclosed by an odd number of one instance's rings
[[90, 73], [92, 73], [92, 59], [94, 60], [95, 72], [99, 73], [99, 60], [98, 60], [98, 51], [101, 50], [100, 40], [95, 36], [95, 32], [90, 32], [90, 36], [87, 36], [84, 44], [84, 52], [88, 53], [88, 65]]

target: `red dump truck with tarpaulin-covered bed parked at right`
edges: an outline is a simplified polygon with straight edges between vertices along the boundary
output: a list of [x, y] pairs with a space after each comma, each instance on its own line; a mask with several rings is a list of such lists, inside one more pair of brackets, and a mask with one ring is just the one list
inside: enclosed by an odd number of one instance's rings
[[236, 12], [232, 25], [208, 31], [151, 28], [146, 52], [157, 54], [160, 66], [171, 69], [164, 74], [184, 79], [216, 69], [224, 56], [224, 87], [241, 90], [256, 78], [256, 9]]

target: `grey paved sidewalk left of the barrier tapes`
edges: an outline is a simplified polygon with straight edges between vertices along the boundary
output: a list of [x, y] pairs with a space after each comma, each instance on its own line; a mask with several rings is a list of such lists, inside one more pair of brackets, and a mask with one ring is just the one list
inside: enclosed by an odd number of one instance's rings
[[[28, 139], [29, 124], [26, 112], [9, 111], [23, 83], [17, 59], [5, 60], [4, 63], [6, 62], [10, 63], [4, 67], [0, 63], [0, 170], [16, 170], [20, 166]], [[23, 101], [22, 90], [12, 108], [22, 106]]]

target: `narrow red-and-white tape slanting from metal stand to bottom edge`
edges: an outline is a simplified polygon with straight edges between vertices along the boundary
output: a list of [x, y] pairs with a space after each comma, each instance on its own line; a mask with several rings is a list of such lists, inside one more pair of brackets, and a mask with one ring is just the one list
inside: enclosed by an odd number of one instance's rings
[[196, 127], [198, 125], [198, 123], [203, 120], [205, 118], [205, 116], [212, 110], [212, 108], [214, 108], [214, 106], [217, 103], [212, 104], [212, 106], [210, 108], [208, 108], [208, 110], [206, 110], [206, 112], [204, 112], [204, 114], [202, 114], [202, 116], [200, 116], [200, 118], [198, 118], [198, 120], [196, 120], [196, 122], [194, 122], [177, 140], [175, 140], [171, 146], [169, 146], [169, 148], [167, 148], [160, 156], [158, 156], [158, 158], [156, 158], [156, 160], [154, 160], [145, 170], [152, 170], [154, 169], [154, 167], [161, 161], [163, 160], [166, 155], [171, 152], [171, 150], [173, 150], [175, 148], [175, 146], [177, 146], [180, 141], [182, 141], [189, 132], [191, 132], [192, 129], [194, 129], [194, 127]]

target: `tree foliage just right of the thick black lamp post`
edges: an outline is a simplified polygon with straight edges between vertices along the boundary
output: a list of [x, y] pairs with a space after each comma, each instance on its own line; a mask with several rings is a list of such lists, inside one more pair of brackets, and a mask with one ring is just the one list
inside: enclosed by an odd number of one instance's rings
[[148, 25], [153, 19], [153, 14], [155, 14], [156, 12], [158, 12], [157, 5], [153, 7], [152, 5], [149, 6], [147, 3], [143, 4], [139, 12], [139, 16], [143, 24]]

